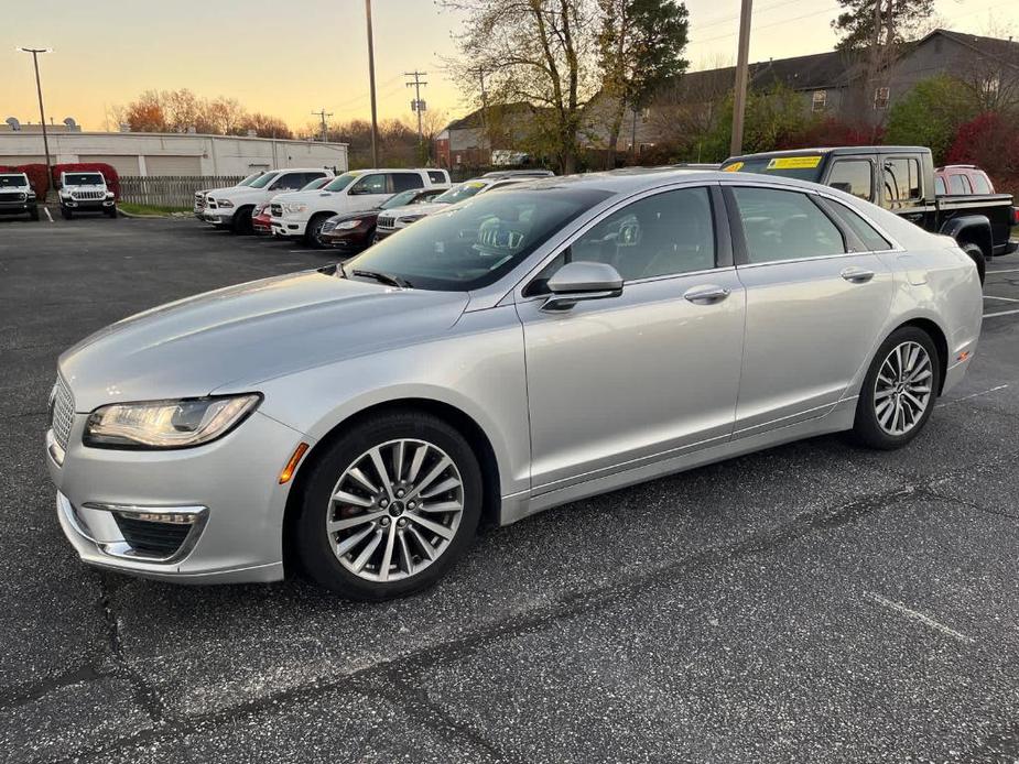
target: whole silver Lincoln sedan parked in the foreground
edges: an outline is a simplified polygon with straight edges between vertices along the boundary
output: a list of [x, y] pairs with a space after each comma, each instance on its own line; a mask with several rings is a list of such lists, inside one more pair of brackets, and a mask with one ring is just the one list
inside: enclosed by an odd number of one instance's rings
[[954, 241], [832, 188], [528, 182], [65, 352], [57, 514], [124, 572], [405, 594], [479, 523], [822, 433], [904, 446], [980, 302]]

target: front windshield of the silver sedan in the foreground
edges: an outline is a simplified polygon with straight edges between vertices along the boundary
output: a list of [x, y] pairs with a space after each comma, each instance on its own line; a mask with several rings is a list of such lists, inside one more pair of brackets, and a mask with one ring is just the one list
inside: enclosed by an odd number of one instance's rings
[[345, 271], [379, 273], [423, 290], [477, 290], [498, 281], [609, 196], [605, 190], [564, 187], [484, 194], [383, 239]]

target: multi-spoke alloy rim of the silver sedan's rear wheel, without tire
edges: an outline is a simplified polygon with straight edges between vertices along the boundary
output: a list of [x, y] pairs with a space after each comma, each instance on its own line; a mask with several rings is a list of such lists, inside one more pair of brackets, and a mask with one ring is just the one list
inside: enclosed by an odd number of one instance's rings
[[923, 418], [931, 403], [933, 365], [919, 342], [908, 341], [891, 349], [874, 383], [874, 413], [888, 435], [909, 433]]

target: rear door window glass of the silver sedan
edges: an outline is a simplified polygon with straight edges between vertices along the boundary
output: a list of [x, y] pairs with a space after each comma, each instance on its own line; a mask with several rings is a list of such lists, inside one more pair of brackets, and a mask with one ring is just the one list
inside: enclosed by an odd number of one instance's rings
[[846, 251], [842, 232], [806, 194], [750, 187], [736, 187], [733, 194], [749, 263], [805, 260]]

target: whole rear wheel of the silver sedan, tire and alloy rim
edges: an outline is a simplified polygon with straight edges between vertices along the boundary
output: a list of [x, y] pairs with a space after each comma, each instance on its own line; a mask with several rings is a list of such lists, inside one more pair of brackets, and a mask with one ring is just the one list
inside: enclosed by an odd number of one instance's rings
[[902, 327], [878, 348], [856, 402], [853, 434], [865, 446], [901, 448], [923, 429], [934, 411], [941, 365], [922, 329]]

